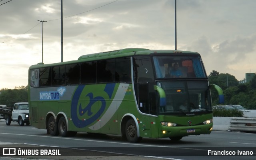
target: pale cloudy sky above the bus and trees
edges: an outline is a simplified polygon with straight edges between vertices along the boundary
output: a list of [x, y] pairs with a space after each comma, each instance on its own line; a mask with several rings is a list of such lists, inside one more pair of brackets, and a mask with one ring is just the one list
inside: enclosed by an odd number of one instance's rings
[[[28, 85], [42, 46], [44, 64], [61, 62], [61, 0], [8, 1], [0, 1], [0, 89]], [[175, 49], [175, 0], [62, 6], [63, 61], [122, 48]], [[255, 6], [256, 0], [177, 0], [177, 50], [200, 53], [207, 75], [216, 70], [243, 80], [256, 72]]]

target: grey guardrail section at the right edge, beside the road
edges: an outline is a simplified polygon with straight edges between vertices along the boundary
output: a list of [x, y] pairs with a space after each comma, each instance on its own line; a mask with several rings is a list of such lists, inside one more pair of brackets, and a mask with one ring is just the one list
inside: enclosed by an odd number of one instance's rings
[[256, 132], [256, 117], [232, 117], [228, 130]]

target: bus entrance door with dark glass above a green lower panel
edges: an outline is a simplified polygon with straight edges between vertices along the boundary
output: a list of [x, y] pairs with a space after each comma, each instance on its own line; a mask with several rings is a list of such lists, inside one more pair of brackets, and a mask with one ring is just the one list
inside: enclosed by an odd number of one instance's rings
[[140, 135], [143, 137], [151, 137], [149, 83], [138, 83], [137, 89], [138, 107], [140, 112], [142, 112], [138, 120]]

